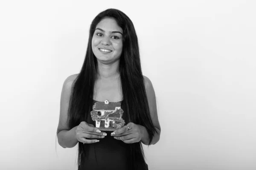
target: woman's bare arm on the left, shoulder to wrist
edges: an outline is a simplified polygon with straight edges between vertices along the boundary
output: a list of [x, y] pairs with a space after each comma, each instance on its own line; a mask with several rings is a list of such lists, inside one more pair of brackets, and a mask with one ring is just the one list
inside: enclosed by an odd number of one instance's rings
[[67, 77], [61, 91], [60, 116], [57, 128], [58, 143], [61, 147], [74, 147], [78, 143], [76, 127], [69, 129], [67, 126], [67, 112], [70, 101], [71, 87], [76, 75]]

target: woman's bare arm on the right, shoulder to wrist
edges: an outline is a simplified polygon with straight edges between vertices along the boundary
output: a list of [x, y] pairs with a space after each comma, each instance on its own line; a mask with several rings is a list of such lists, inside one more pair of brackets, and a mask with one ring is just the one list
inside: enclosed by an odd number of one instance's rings
[[[157, 130], [157, 133], [154, 134], [151, 144], [156, 144], [160, 139], [160, 133], [161, 133], [161, 128], [160, 128], [160, 124], [159, 124], [158, 116], [157, 116], [156, 96], [155, 96], [154, 88], [153, 88], [153, 85], [152, 85], [150, 79], [148, 79], [148, 77], [144, 76], [144, 80], [145, 80], [145, 89], [146, 89], [146, 94], [147, 94], [147, 98], [148, 98], [148, 106], [149, 106], [150, 116], [151, 116], [153, 125]], [[141, 142], [143, 144], [148, 145], [148, 143], [149, 143], [148, 132], [144, 126], [141, 126], [141, 125], [139, 125], [139, 126], [140, 126], [140, 130], [141, 130], [141, 134], [142, 134]]]

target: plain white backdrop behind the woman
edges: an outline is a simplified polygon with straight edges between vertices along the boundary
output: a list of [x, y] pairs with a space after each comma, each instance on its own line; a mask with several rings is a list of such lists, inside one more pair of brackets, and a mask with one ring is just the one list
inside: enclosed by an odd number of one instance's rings
[[61, 88], [107, 8], [133, 21], [157, 96], [149, 170], [255, 170], [253, 0], [1, 1], [0, 169], [76, 170], [77, 147], [55, 141]]

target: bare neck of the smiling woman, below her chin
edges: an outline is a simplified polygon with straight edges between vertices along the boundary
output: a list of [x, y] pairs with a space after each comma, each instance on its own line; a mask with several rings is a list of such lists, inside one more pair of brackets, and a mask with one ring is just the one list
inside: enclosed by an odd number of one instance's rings
[[111, 64], [103, 64], [98, 62], [98, 77], [109, 79], [119, 76], [119, 62], [114, 62]]

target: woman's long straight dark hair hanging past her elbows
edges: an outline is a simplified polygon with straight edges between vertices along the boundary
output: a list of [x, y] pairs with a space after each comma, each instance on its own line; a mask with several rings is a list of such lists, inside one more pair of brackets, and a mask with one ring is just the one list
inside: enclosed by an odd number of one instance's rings
[[[90, 115], [93, 104], [93, 90], [97, 75], [97, 60], [92, 51], [92, 38], [96, 25], [105, 17], [111, 17], [123, 30], [123, 48], [119, 63], [123, 102], [130, 122], [144, 126], [150, 143], [156, 129], [150, 117], [145, 82], [141, 71], [140, 53], [135, 28], [129, 17], [117, 9], [107, 9], [99, 13], [90, 25], [90, 34], [83, 66], [73, 83], [68, 110], [67, 125], [73, 128]], [[87, 113], [86, 115], [84, 113]], [[131, 169], [146, 169], [141, 142], [129, 144]], [[78, 166], [83, 164], [86, 152], [79, 142]]]

